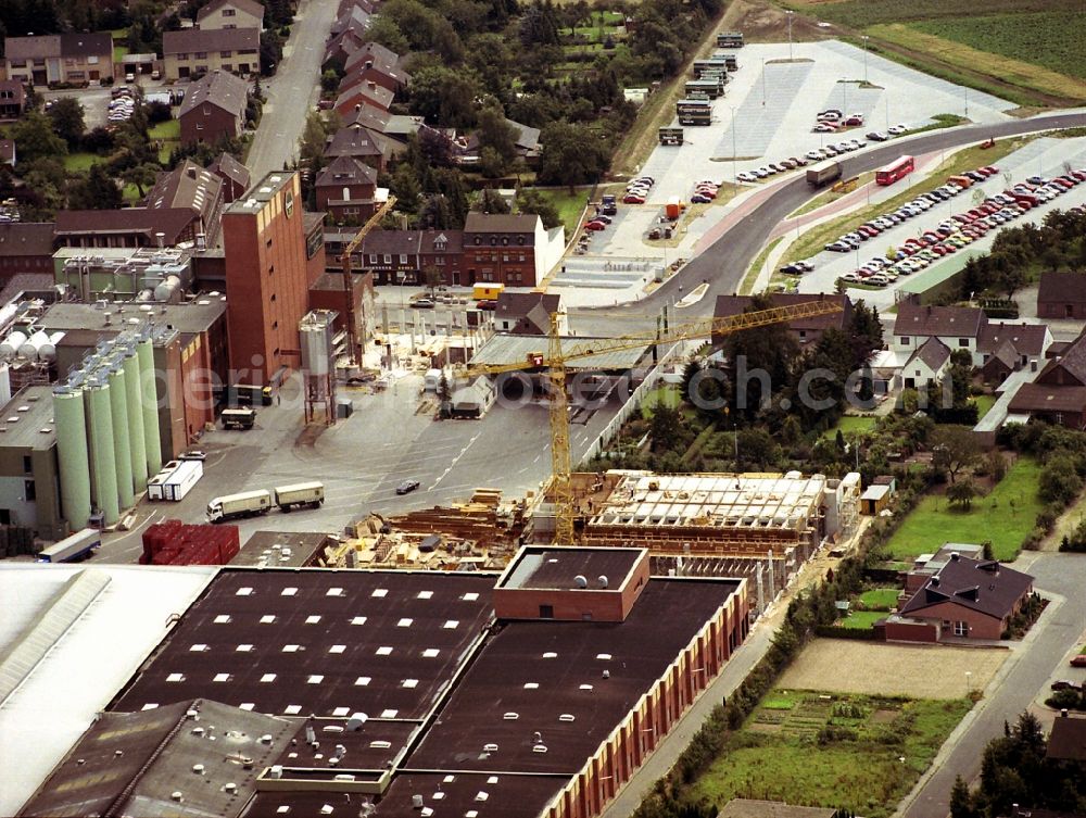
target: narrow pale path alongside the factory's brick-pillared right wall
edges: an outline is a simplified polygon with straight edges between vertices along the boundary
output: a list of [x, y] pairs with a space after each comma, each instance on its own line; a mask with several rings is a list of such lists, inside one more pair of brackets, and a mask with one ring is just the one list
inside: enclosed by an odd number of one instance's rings
[[[860, 523], [857, 532], [846, 544], [846, 554], [853, 552], [858, 538], [862, 537], [869, 524], [869, 519]], [[836, 568], [841, 563], [839, 557], [831, 557], [828, 552], [829, 549], [824, 546], [820, 549], [799, 570], [792, 584], [759, 617], [747, 640], [728, 660], [724, 669], [702, 691], [671, 732], [664, 737], [648, 759], [634, 771], [633, 777], [619, 790], [614, 801], [604, 807], [601, 818], [628, 818], [645, 800], [645, 796], [652, 792], [657, 780], [666, 776], [674, 766], [712, 708], [735, 692], [755, 665], [761, 662], [766, 653], [769, 652], [773, 637], [781, 622], [784, 621], [788, 604], [795, 595], [821, 581], [825, 577], [826, 569]]]

